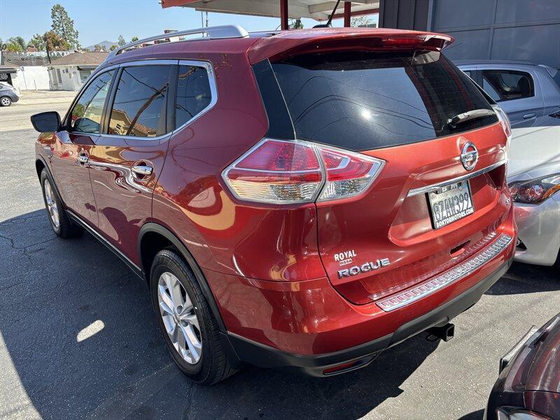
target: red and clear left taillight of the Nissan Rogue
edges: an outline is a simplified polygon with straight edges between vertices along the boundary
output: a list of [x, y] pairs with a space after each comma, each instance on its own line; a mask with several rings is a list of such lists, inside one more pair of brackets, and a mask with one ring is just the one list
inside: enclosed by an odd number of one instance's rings
[[222, 176], [239, 200], [302, 204], [359, 195], [381, 165], [382, 160], [307, 141], [263, 139]]

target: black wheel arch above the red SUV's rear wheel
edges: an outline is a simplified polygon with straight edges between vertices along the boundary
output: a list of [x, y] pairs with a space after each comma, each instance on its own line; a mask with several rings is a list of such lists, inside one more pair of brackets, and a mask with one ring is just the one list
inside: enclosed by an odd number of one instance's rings
[[[150, 239], [149, 242], [148, 239]], [[187, 265], [190, 267], [190, 269], [193, 270], [193, 274], [195, 274], [195, 278], [200, 284], [202, 293], [208, 301], [209, 307], [214, 314], [216, 321], [218, 322], [220, 331], [227, 331], [225, 328], [225, 324], [223, 323], [220, 310], [218, 309], [218, 304], [216, 303], [216, 299], [214, 298], [214, 294], [212, 293], [212, 290], [207, 282], [206, 276], [204, 276], [204, 273], [193, 257], [193, 254], [188, 251], [188, 248], [185, 246], [185, 244], [183, 244], [179, 237], [177, 237], [171, 230], [165, 228], [165, 226], [163, 225], [154, 222], [148, 222], [140, 228], [137, 246], [141, 269], [142, 272], [144, 272], [144, 278], [148, 283], [148, 287], [150, 284], [151, 264], [153, 262], [153, 257], [155, 256], [155, 254], [161, 251], [161, 249], [167, 248], [167, 246], [173, 246], [174, 248], [176, 248]]]

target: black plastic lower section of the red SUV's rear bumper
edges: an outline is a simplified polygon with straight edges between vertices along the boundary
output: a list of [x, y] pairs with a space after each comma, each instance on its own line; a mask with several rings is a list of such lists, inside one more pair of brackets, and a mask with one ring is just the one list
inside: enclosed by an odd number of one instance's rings
[[384, 351], [384, 349], [388, 349], [433, 326], [447, 324], [455, 316], [461, 314], [461, 312], [469, 309], [473, 304], [478, 302], [484, 292], [507, 272], [511, 263], [512, 258], [505, 260], [505, 262], [502, 262], [491, 274], [481, 281], [478, 281], [474, 286], [468, 288], [468, 290], [465, 290], [460, 295], [457, 295], [428, 313], [400, 325], [394, 332], [347, 349], [316, 355], [303, 355], [282, 351], [272, 346], [267, 346], [251, 339], [241, 337], [233, 332], [225, 334], [224, 339], [230, 344], [232, 355], [235, 355], [238, 360], [258, 367], [283, 367], [302, 371], [312, 376], [322, 377], [325, 376], [323, 370], [328, 369], [328, 367], [359, 360], [359, 363], [345, 370], [337, 371], [336, 373], [349, 372], [350, 370], [365, 367], [371, 363], [381, 351]]

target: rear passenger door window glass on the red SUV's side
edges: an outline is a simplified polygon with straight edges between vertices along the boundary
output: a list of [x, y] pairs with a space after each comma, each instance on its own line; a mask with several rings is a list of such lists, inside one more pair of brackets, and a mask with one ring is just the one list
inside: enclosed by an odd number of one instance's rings
[[171, 66], [125, 67], [118, 81], [109, 134], [155, 137], [165, 134]]

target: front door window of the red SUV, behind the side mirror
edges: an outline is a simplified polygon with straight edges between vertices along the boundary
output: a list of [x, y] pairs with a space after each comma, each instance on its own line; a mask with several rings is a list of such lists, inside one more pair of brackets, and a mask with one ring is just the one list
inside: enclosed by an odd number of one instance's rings
[[71, 131], [99, 133], [105, 99], [114, 74], [114, 70], [106, 71], [87, 86], [70, 114]]

